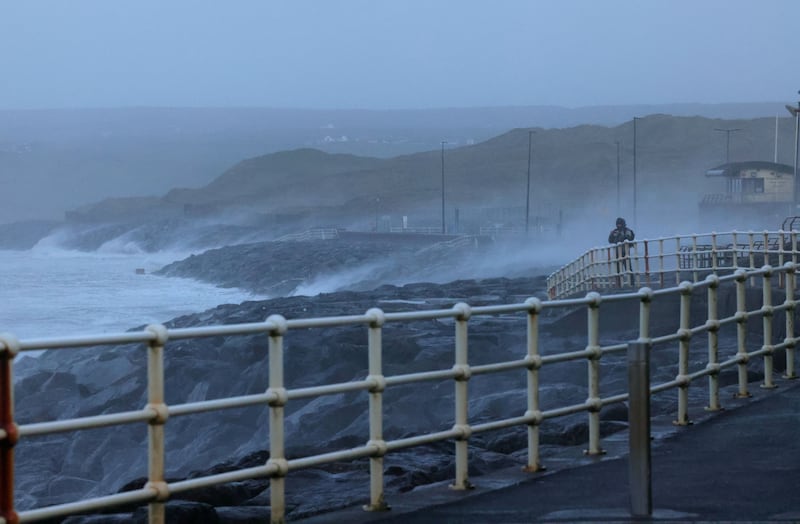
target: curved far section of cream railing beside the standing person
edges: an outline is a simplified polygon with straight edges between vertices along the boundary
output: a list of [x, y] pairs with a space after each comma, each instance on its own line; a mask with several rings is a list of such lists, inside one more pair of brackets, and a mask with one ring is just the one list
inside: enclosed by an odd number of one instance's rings
[[798, 262], [800, 231], [705, 233], [594, 247], [547, 278], [551, 299], [588, 291], [664, 288], [709, 274]]

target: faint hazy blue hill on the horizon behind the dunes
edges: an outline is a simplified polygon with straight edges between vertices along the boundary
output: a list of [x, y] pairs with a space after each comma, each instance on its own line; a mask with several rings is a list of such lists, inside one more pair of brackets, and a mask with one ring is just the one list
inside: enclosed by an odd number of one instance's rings
[[[414, 111], [0, 111], [0, 188], [5, 197], [0, 223], [61, 219], [67, 210], [104, 198], [158, 197], [177, 187], [202, 187], [242, 159], [283, 150], [396, 158], [435, 151], [442, 140], [449, 148], [460, 148], [515, 128], [614, 127], [633, 116], [656, 113], [732, 120], [774, 118], [785, 110], [782, 102], [763, 102]], [[717, 136], [715, 145], [721, 142]]]

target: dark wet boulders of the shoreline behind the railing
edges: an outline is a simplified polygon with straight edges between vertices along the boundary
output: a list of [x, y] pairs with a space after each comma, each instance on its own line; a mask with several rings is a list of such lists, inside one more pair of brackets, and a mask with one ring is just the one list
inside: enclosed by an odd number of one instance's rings
[[[259, 243], [235, 246], [191, 257], [168, 266], [165, 275], [215, 281], [262, 289], [270, 282], [314, 271], [333, 276], [347, 265], [370, 265], [389, 256], [385, 246], [359, 250], [352, 243], [276, 246]], [[394, 247], [397, 251], [405, 248]], [[467, 270], [453, 260], [477, 259], [474, 246], [454, 250], [450, 257], [434, 252], [439, 268], [431, 270], [419, 256], [419, 246], [409, 249], [406, 260], [416, 262], [413, 275], [449, 275]], [[465, 256], [466, 253], [466, 256]], [[393, 252], [392, 255], [395, 253]], [[415, 254], [417, 254], [415, 258]], [[290, 258], [291, 257], [291, 258]], [[283, 262], [280, 269], [277, 260]], [[394, 262], [393, 262], [394, 263]], [[327, 264], [327, 265], [326, 265]], [[467, 266], [469, 264], [466, 264]], [[322, 267], [322, 269], [320, 269]], [[460, 267], [458, 270], [453, 268]], [[473, 268], [474, 269], [474, 268]], [[373, 307], [384, 311], [408, 311], [452, 307], [457, 302], [472, 306], [520, 303], [528, 297], [545, 299], [545, 272], [519, 268], [526, 276], [451, 280], [447, 283], [419, 282], [369, 287], [368, 279], [351, 282], [353, 289], [315, 296], [278, 297], [225, 304], [173, 319], [169, 328], [263, 321], [271, 314], [286, 318], [311, 318], [360, 314]], [[513, 273], [513, 271], [511, 271]], [[408, 276], [408, 275], [407, 275]], [[347, 288], [347, 286], [344, 286]], [[294, 288], [297, 289], [296, 287]], [[674, 304], [663, 307], [671, 308]], [[637, 325], [624, 308], [609, 311], [606, 340], [635, 338]], [[697, 307], [702, 308], [702, 304]], [[654, 332], [673, 329], [666, 315], [654, 315]], [[542, 351], [583, 349], [586, 313], [583, 309], [545, 314], [540, 336]], [[140, 328], [139, 328], [140, 329]], [[487, 363], [525, 355], [524, 315], [510, 318], [474, 318], [470, 321], [470, 362]], [[756, 327], [753, 327], [756, 329]], [[758, 327], [760, 329], [760, 327]], [[437, 321], [392, 323], [384, 327], [384, 373], [449, 369], [453, 365], [452, 323]], [[366, 335], [360, 328], [323, 328], [290, 332], [285, 341], [286, 385], [300, 388], [358, 379], [367, 374]], [[146, 404], [146, 360], [141, 347], [116, 346], [48, 351], [36, 359], [21, 359], [15, 366], [17, 420], [21, 424], [68, 416], [90, 416], [140, 409]], [[668, 354], [669, 353], [669, 354]], [[607, 361], [607, 362], [606, 362]], [[624, 391], [624, 363], [604, 359], [604, 388]], [[560, 368], [559, 368], [560, 369]], [[672, 378], [675, 356], [664, 352], [653, 362], [654, 380]], [[267, 344], [263, 336], [214, 337], [169, 342], [165, 350], [166, 402], [170, 405], [263, 392], [267, 388]], [[735, 381], [733, 374], [724, 380]], [[543, 402], [579, 403], [586, 397], [586, 368], [576, 363], [565, 370], [548, 371]], [[430, 386], [399, 386], [385, 401], [384, 435], [402, 438], [447, 429], [453, 424], [452, 381]], [[475, 377], [470, 381], [470, 420], [519, 416], [525, 411], [525, 376], [501, 374]], [[699, 393], [702, 397], [702, 392]], [[307, 401], [290, 402], [286, 411], [287, 456], [297, 457], [362, 445], [368, 438], [366, 393], [338, 394]], [[420, 409], [420, 406], [425, 406]], [[674, 409], [672, 395], [653, 401], [654, 413]], [[313, 423], [310, 421], [313, 420]], [[609, 435], [627, 427], [623, 405], [601, 412], [601, 432]], [[541, 426], [541, 442], [548, 447], [585, 445], [588, 427], [585, 414], [548, 420]], [[268, 458], [268, 417], [262, 408], [226, 410], [214, 414], [170, 419], [167, 434], [167, 476], [170, 480], [193, 478], [241, 467], [263, 464]], [[102, 496], [139, 488], [146, 476], [146, 428], [99, 429], [22, 439], [17, 454], [17, 507], [26, 509], [59, 504], [88, 496]], [[499, 468], [524, 465], [524, 427], [476, 435], [470, 439], [470, 475]], [[414, 448], [386, 457], [386, 492], [403, 492], [415, 486], [450, 479], [454, 475], [452, 443]], [[364, 503], [368, 497], [366, 460], [336, 463], [292, 472], [287, 477], [289, 520], [331, 509]], [[269, 511], [266, 479], [235, 482], [181, 494], [168, 503], [170, 523], [265, 522]], [[89, 522], [145, 522], [146, 508], [123, 508], [113, 514], [75, 516], [71, 524]]]

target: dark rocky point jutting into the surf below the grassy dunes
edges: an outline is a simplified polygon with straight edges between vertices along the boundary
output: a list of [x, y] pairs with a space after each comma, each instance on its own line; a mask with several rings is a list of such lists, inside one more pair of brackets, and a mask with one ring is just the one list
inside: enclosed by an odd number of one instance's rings
[[[222, 287], [240, 287], [270, 296], [344, 291], [390, 291], [382, 285], [410, 285], [419, 297], [441, 298], [426, 282], [451, 282], [465, 276], [496, 276], [488, 263], [501, 257], [506, 246], [475, 237], [453, 245], [437, 235], [358, 235], [305, 242], [270, 241], [211, 249], [173, 262], [159, 275], [184, 277]], [[480, 239], [479, 239], [480, 238]], [[539, 269], [540, 274], [544, 273]], [[518, 264], [502, 271], [511, 277], [537, 271]], [[539, 277], [543, 278], [543, 277]], [[469, 281], [467, 281], [469, 282]], [[544, 287], [535, 290], [541, 293]], [[471, 289], [470, 289], [471, 287]], [[491, 295], [483, 284], [464, 284], [466, 296]], [[530, 291], [531, 293], [534, 290]], [[342, 300], [347, 300], [343, 295]], [[390, 297], [385, 297], [386, 300]]]

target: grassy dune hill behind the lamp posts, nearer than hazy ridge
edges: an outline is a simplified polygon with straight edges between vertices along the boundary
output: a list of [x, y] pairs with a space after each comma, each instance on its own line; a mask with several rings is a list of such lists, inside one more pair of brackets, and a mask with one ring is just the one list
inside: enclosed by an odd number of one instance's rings
[[[791, 163], [793, 122], [783, 118], [778, 124], [778, 161]], [[727, 137], [717, 129], [738, 129], [730, 137], [731, 161], [773, 160], [774, 118], [719, 120], [658, 114], [637, 122], [638, 223], [632, 217], [631, 122], [612, 127], [514, 129], [474, 145], [446, 144], [447, 229], [475, 229], [492, 220], [504, 226], [524, 224], [531, 132], [531, 217], [537, 224], [563, 220], [599, 231], [610, 228], [617, 214], [624, 214], [651, 235], [691, 232], [699, 226], [697, 204], [702, 195], [722, 191], [721, 181], [705, 177], [706, 170], [726, 161]], [[160, 205], [179, 214], [205, 210], [199, 213], [205, 218], [234, 211], [302, 214], [306, 225], [369, 229], [379, 217], [399, 225], [405, 216], [414, 226], [437, 227], [441, 224], [441, 177], [441, 149], [386, 159], [296, 149], [242, 161], [199, 188], [169, 191]], [[103, 220], [108, 212], [102, 211], [104, 206], [107, 203], [85, 207], [86, 217]], [[130, 211], [132, 216], [142, 216], [135, 206]]]

